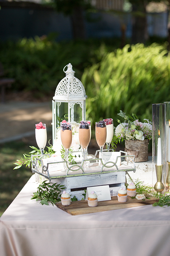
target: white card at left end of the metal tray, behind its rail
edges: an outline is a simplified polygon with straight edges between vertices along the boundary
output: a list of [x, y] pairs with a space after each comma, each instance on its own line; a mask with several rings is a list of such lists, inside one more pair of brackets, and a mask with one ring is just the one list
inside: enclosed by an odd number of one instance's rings
[[[43, 164], [47, 166], [47, 163], [55, 163], [55, 162], [61, 162], [62, 158], [61, 156], [54, 156], [51, 158], [43, 158]], [[58, 164], [49, 164], [48, 170], [49, 173], [54, 172], [54, 171], [60, 171], [64, 169], [63, 163], [58, 163]]]

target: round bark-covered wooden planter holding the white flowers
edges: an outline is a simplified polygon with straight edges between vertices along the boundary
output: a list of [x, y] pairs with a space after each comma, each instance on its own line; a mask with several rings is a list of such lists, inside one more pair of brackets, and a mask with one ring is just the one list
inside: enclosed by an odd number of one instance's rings
[[125, 140], [125, 152], [128, 155], [135, 155], [135, 162], [148, 161], [148, 139]]

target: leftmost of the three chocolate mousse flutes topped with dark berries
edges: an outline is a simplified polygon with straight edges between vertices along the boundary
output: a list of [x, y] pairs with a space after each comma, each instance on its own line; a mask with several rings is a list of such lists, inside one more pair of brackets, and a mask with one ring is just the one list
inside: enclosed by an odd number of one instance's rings
[[72, 145], [72, 125], [70, 122], [63, 120], [60, 123], [60, 129], [61, 129], [61, 142], [65, 149], [65, 160], [68, 165], [68, 152]]

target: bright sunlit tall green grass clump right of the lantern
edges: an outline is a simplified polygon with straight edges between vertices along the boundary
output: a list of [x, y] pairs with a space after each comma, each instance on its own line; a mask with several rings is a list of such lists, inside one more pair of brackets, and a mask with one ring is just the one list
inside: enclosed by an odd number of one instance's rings
[[170, 55], [153, 43], [126, 45], [86, 68], [86, 118], [117, 119], [120, 110], [152, 120], [152, 103], [170, 101]]

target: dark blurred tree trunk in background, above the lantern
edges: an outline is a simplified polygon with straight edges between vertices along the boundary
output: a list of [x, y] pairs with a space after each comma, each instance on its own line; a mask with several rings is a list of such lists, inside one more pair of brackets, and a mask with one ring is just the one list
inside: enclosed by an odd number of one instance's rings
[[74, 7], [70, 18], [72, 22], [73, 39], [85, 39], [84, 15], [80, 5]]

